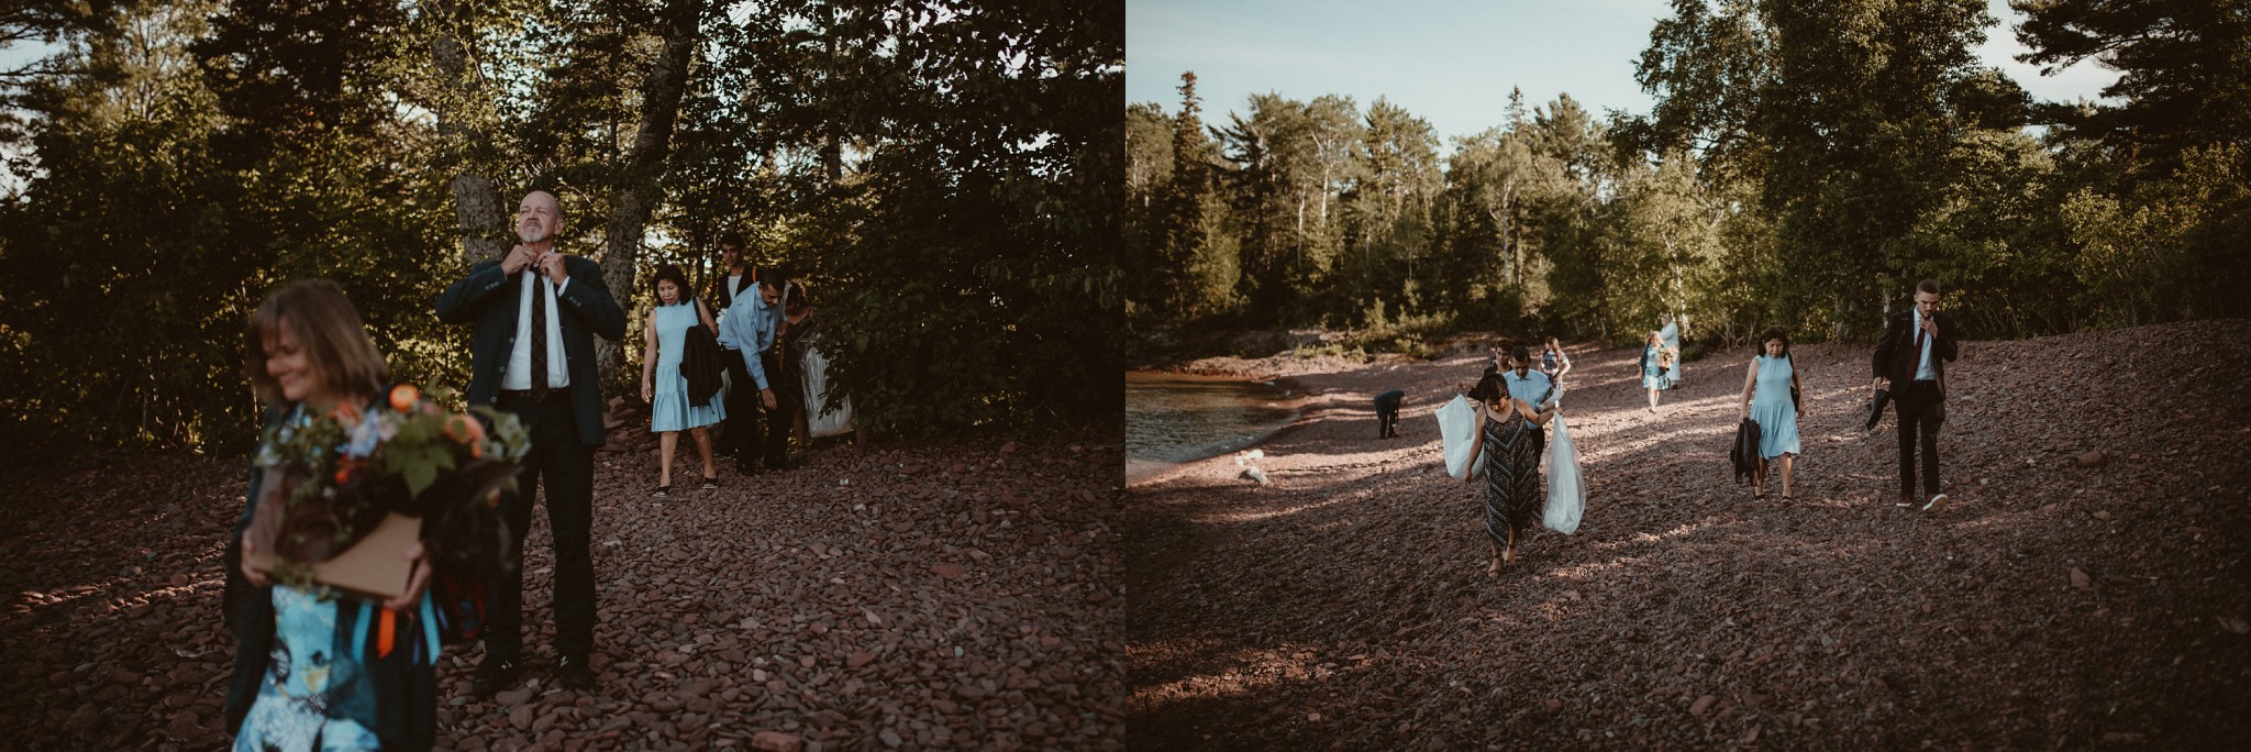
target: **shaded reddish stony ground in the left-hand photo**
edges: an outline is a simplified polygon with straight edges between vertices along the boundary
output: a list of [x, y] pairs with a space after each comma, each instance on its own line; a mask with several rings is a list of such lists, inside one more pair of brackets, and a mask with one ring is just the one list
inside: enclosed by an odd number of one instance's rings
[[[554, 558], [533, 513], [527, 682], [475, 698], [477, 653], [448, 651], [439, 747], [1121, 747], [1114, 426], [799, 459], [651, 500], [655, 450], [599, 455], [599, 687], [549, 680]], [[675, 466], [682, 489], [696, 473]], [[180, 455], [9, 473], [0, 747], [230, 743], [218, 561], [245, 480], [243, 459]]]

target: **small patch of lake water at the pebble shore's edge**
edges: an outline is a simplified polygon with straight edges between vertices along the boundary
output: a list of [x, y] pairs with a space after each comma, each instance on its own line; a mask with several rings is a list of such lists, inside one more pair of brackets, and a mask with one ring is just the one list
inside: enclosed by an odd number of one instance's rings
[[1225, 455], [1290, 426], [1285, 390], [1180, 374], [1126, 374], [1126, 480]]

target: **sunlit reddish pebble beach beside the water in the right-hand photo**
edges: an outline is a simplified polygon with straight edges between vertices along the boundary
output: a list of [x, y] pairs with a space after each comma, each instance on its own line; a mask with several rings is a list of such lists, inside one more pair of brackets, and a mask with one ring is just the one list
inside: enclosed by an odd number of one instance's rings
[[[1893, 509], [1866, 344], [1799, 347], [1799, 502], [1727, 462], [1747, 349], [1643, 412], [1573, 349], [1576, 536], [1483, 572], [1432, 410], [1483, 356], [1204, 360], [1319, 396], [1128, 489], [1137, 750], [2222, 750], [2251, 738], [2251, 322], [1967, 342], [1936, 513]], [[1371, 396], [1407, 390], [1405, 437]]]

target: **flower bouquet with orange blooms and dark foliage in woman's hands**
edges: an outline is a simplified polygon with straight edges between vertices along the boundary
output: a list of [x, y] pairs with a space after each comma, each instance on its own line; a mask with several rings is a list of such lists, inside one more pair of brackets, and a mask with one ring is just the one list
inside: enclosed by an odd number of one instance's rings
[[419, 540], [441, 579], [484, 581], [511, 561], [497, 504], [529, 448], [513, 414], [448, 412], [414, 385], [362, 412], [284, 421], [259, 441], [250, 565], [385, 599], [407, 590]]

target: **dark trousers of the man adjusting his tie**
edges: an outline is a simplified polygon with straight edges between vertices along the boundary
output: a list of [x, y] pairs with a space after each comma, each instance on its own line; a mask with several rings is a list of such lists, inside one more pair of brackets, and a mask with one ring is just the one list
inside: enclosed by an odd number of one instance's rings
[[556, 653], [585, 660], [594, 651], [594, 448], [579, 441], [579, 421], [570, 392], [558, 390], [545, 403], [500, 396], [502, 412], [513, 412], [531, 435], [531, 453], [515, 475], [515, 493], [500, 498], [500, 516], [509, 522], [513, 565], [500, 574], [491, 592], [491, 624], [484, 628], [486, 657], [518, 657], [524, 651], [524, 538], [531, 531], [531, 500], [545, 489], [547, 527], [554, 531], [554, 619]]

